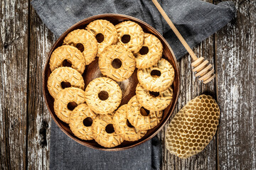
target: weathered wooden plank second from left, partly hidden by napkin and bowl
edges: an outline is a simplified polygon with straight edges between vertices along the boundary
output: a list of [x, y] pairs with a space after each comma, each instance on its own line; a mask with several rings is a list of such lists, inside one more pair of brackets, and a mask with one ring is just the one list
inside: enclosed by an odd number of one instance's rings
[[43, 101], [43, 67], [55, 41], [30, 6], [30, 49], [28, 86], [28, 169], [48, 169], [50, 113]]

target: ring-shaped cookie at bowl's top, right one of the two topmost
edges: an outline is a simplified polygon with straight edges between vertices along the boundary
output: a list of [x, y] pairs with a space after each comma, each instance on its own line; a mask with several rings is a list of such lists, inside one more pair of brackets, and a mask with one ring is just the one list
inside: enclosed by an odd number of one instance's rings
[[118, 23], [115, 28], [117, 29], [117, 43], [133, 53], [139, 52], [144, 42], [142, 27], [132, 21], [124, 21]]

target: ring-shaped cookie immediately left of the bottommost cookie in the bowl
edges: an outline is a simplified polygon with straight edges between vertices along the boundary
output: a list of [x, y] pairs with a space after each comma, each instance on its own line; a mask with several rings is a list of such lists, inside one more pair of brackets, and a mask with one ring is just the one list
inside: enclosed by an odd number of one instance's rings
[[85, 104], [77, 106], [70, 115], [70, 130], [82, 140], [93, 140], [92, 123], [96, 114]]

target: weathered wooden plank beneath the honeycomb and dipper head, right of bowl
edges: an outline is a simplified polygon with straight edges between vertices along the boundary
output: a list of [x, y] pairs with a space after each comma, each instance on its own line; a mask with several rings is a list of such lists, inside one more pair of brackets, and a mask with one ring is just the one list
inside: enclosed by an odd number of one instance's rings
[[[214, 64], [214, 45], [213, 35], [204, 40], [201, 45], [195, 48], [194, 52], [198, 57], [205, 57], [210, 63]], [[191, 58], [186, 55], [179, 62], [181, 71], [181, 94], [178, 98], [176, 111], [174, 115], [186, 105], [188, 101], [201, 94], [210, 94], [215, 97], [215, 81], [209, 84], [203, 84], [198, 81], [191, 70]], [[174, 115], [172, 118], [174, 118]], [[171, 119], [170, 119], [171, 120]], [[170, 122], [169, 120], [169, 122]], [[213, 140], [202, 152], [188, 159], [179, 159], [170, 154], [166, 150], [164, 143], [164, 135], [168, 124], [161, 130], [161, 140], [163, 144], [162, 150], [162, 166], [161, 169], [216, 169], [216, 139]]]

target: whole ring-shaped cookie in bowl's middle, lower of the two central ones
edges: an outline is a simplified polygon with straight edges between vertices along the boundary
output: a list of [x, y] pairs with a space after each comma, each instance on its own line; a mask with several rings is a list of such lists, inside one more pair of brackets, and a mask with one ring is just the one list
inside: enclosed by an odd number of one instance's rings
[[118, 108], [121, 99], [122, 91], [119, 85], [107, 77], [90, 81], [85, 89], [85, 101], [95, 113], [112, 113]]

